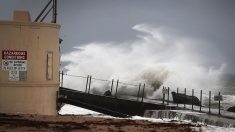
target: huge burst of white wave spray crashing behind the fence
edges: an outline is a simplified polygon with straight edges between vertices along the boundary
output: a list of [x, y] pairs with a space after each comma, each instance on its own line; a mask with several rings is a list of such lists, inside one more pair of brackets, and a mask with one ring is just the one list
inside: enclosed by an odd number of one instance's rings
[[[226, 62], [206, 54], [206, 50], [216, 50], [212, 44], [176, 35], [164, 27], [139, 24], [132, 29], [137, 33], [136, 40], [92, 42], [63, 54], [61, 60], [67, 62], [64, 67], [67, 74], [119, 79], [137, 85], [146, 83], [152, 89], [148, 90], [150, 96], [156, 96], [162, 86], [198, 91], [221, 88], [220, 78]], [[85, 80], [65, 78], [64, 85], [84, 90]], [[103, 91], [109, 85], [92, 82], [95, 91]]]

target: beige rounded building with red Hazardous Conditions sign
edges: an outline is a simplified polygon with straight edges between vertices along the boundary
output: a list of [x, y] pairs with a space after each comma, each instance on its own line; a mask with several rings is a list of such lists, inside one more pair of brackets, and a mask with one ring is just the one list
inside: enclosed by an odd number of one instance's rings
[[0, 113], [57, 114], [59, 29], [27, 11], [0, 21]]

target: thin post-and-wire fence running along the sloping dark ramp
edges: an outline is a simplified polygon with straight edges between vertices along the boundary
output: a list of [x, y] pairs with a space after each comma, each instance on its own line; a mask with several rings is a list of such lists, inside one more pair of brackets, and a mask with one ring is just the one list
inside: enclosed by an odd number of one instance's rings
[[[163, 105], [175, 105], [177, 108], [191, 109], [192, 111], [204, 112], [213, 115], [221, 116], [221, 101], [223, 101], [223, 96], [220, 92], [217, 94], [213, 94], [214, 98], [212, 98], [212, 92], [207, 91], [203, 92], [203, 90], [196, 91], [194, 89], [188, 90], [187, 88], [176, 88], [176, 91], [173, 91], [170, 87], [163, 86], [161, 89], [162, 98], [150, 98], [147, 96], [148, 91], [151, 91], [153, 88], [145, 83], [125, 83], [121, 82], [119, 79], [99, 79], [95, 78], [92, 75], [87, 76], [78, 76], [78, 75], [70, 75], [64, 73], [63, 71], [60, 73], [60, 86], [64, 86], [64, 77], [75, 78], [76, 81], [81, 81], [84, 87], [83, 92], [87, 94], [100, 94], [105, 95], [105, 92], [109, 91], [110, 95], [114, 98], [125, 98], [136, 100], [137, 102], [144, 101], [158, 101]], [[101, 87], [105, 87], [103, 91], [94, 90], [96, 84], [101, 84]], [[81, 89], [81, 88], [80, 88]], [[80, 90], [81, 91], [81, 90]], [[154, 92], [154, 91], [153, 91]], [[191, 104], [188, 103], [177, 103], [173, 100], [171, 92], [175, 92], [176, 95], [184, 95], [187, 99], [191, 98]], [[200, 104], [195, 105], [194, 99], [195, 97], [199, 99]], [[204, 105], [202, 104], [204, 100], [207, 100]], [[213, 102], [213, 103], [212, 103]]]

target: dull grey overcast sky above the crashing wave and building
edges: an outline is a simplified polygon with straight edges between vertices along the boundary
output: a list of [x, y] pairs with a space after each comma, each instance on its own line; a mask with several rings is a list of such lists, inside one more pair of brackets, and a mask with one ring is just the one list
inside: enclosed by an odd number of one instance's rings
[[[14, 9], [31, 12], [34, 20], [48, 0], [1, 0], [0, 19], [10, 20]], [[93, 41], [136, 39], [136, 24], [148, 23], [173, 29], [177, 35], [198, 38], [205, 55], [225, 59], [235, 73], [234, 0], [58, 0], [62, 25], [62, 52]], [[215, 51], [208, 50], [212, 46]]]

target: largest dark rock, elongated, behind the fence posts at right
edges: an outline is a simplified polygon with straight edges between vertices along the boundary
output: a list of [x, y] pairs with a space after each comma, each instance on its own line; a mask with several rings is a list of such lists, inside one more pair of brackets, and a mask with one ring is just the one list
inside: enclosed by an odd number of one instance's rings
[[173, 102], [178, 104], [193, 104], [200, 106], [201, 101], [196, 96], [189, 96], [181, 93], [171, 92], [173, 97]]

